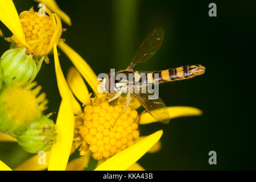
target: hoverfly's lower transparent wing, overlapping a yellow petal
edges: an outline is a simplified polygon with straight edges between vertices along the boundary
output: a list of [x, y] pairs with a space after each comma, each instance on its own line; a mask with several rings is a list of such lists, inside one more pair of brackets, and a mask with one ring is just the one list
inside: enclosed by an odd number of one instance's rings
[[133, 93], [141, 105], [154, 117], [157, 121], [167, 124], [170, 122], [169, 112], [162, 101], [158, 98], [156, 100], [148, 100], [148, 93]]

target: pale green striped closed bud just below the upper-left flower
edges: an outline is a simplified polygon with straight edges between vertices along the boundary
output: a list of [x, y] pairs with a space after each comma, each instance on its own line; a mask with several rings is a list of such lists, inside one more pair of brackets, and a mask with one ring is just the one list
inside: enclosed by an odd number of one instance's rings
[[35, 79], [43, 60], [44, 57], [38, 60], [33, 59], [32, 55], [27, 55], [26, 47], [9, 49], [0, 58], [2, 72], [0, 80], [6, 85], [13, 85], [17, 81], [22, 81], [24, 86]]

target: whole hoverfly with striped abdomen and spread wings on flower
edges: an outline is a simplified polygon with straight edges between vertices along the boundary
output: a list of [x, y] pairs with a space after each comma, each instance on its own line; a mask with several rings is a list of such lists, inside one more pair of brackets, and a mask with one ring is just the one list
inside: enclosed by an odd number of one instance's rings
[[[146, 63], [152, 56], [155, 55], [156, 51], [160, 48], [163, 43], [163, 29], [155, 28], [147, 37], [143, 40], [141, 46], [139, 46], [133, 60], [131, 60], [127, 69], [119, 71], [115, 75], [109, 75], [108, 80], [104, 78], [100, 82], [100, 88], [102, 90], [111, 93], [112, 79], [111, 76], [117, 77], [121, 73], [126, 77], [122, 77], [114, 80], [114, 93], [116, 93], [108, 102], [111, 102], [121, 96], [122, 93], [127, 93], [126, 107], [124, 112], [130, 103], [130, 94], [133, 94], [135, 98], [141, 103], [141, 105], [154, 117], [157, 121], [168, 123], [169, 113], [164, 102], [159, 98], [148, 99], [150, 93], [146, 86], [149, 84], [155, 85], [161, 82], [169, 82], [175, 80], [184, 80], [195, 76], [202, 75], [205, 72], [205, 67], [202, 65], [186, 65], [179, 68], [166, 69], [163, 71], [147, 73], [142, 79], [142, 76], [136, 71], [133, 71], [133, 67], [138, 63]], [[133, 80], [128, 79], [129, 76], [133, 77]], [[112, 81], [113, 82], [113, 81]], [[146, 90], [143, 93], [142, 90]]]

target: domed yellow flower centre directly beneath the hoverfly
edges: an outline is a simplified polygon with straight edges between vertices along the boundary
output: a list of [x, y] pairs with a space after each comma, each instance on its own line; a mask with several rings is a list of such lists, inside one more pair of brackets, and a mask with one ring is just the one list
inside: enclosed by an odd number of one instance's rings
[[84, 107], [84, 123], [78, 130], [95, 159], [108, 159], [133, 145], [139, 137], [137, 111], [129, 107], [122, 114], [123, 109], [123, 105], [111, 106], [108, 102]]

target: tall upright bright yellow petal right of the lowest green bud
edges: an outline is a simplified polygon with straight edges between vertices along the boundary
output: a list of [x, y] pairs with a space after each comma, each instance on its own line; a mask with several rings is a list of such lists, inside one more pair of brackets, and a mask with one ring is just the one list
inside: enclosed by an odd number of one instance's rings
[[51, 148], [48, 170], [65, 170], [73, 143], [74, 115], [70, 93], [63, 97], [56, 121], [57, 142]]

